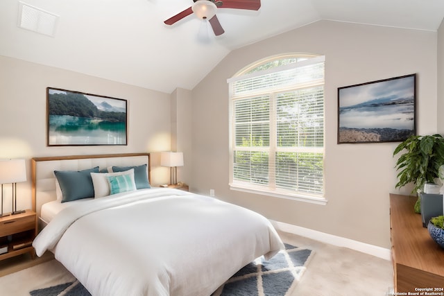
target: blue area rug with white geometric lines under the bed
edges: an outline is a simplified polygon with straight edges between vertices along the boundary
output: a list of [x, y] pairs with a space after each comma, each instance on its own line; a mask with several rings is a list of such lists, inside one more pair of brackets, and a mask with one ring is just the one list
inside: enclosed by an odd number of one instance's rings
[[[212, 296], [285, 296], [307, 269], [312, 250], [285, 244], [285, 250], [266, 261], [263, 256], [239, 270]], [[90, 296], [79, 281], [32, 290], [31, 296]]]

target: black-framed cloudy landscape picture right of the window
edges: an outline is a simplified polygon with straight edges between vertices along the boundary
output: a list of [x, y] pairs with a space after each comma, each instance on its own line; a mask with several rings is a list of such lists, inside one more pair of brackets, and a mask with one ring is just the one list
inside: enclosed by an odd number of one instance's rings
[[416, 135], [416, 74], [338, 88], [338, 143]]

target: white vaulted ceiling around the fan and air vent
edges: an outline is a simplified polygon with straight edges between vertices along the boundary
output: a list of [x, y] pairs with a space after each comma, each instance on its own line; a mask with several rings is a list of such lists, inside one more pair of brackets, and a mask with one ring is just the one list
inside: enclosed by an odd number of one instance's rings
[[436, 31], [443, 0], [262, 0], [219, 9], [225, 33], [189, 15], [192, 0], [22, 0], [60, 16], [54, 37], [17, 26], [19, 1], [0, 1], [0, 55], [171, 93], [193, 89], [230, 51], [321, 19]]

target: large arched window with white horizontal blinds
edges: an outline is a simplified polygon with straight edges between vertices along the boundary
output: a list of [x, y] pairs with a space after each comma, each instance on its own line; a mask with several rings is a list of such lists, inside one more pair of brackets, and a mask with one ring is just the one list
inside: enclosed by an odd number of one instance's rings
[[230, 188], [325, 200], [324, 60], [275, 58], [228, 80]]

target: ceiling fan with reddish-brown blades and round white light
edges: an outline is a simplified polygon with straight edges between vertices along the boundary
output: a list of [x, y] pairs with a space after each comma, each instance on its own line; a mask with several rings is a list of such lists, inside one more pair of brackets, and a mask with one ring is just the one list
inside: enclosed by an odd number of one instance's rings
[[246, 10], [259, 10], [260, 0], [193, 0], [194, 4], [189, 8], [179, 12], [177, 15], [164, 21], [167, 25], [172, 25], [184, 17], [194, 14], [200, 19], [208, 19], [216, 36], [222, 35], [223, 30], [219, 19], [216, 17], [217, 8], [234, 8]]

